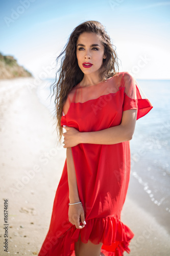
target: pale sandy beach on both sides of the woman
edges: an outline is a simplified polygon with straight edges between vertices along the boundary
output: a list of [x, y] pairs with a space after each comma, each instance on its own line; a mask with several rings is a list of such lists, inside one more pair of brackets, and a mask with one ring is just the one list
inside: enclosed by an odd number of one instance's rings
[[[53, 115], [40, 103], [37, 89], [30, 89], [31, 83], [33, 78], [0, 81], [2, 256], [38, 254], [48, 231], [66, 157], [66, 150], [57, 144]], [[135, 186], [135, 181], [130, 185]], [[136, 204], [131, 193], [122, 212], [122, 221], [135, 233], [130, 255], [169, 255], [170, 233], [157, 220], [161, 219], [161, 211], [154, 215], [154, 205], [152, 211], [146, 211]], [[8, 203], [6, 225], [4, 200]], [[169, 219], [164, 223], [169, 223]], [[8, 232], [8, 252], [3, 248], [4, 226]]]

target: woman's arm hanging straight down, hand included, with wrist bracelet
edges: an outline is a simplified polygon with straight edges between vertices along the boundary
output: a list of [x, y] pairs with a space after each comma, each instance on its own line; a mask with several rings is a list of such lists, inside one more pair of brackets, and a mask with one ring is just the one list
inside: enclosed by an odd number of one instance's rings
[[[80, 202], [80, 199], [79, 199], [79, 193], [78, 193], [75, 164], [72, 157], [71, 147], [68, 147], [66, 150], [66, 158], [67, 158], [67, 175], [68, 175], [68, 187], [69, 187], [69, 202], [71, 204], [78, 203]], [[84, 227], [84, 225], [80, 225], [80, 219], [82, 223], [84, 223], [85, 221], [84, 209], [82, 204], [69, 205], [68, 219], [70, 223], [72, 223], [73, 225], [76, 225], [76, 228]]]

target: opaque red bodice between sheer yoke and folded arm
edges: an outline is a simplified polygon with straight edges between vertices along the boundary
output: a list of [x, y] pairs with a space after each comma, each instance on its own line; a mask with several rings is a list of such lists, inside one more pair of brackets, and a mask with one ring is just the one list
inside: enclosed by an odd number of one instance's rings
[[100, 131], [119, 125], [122, 120], [124, 90], [102, 95], [84, 103], [71, 103], [67, 125], [80, 132]]

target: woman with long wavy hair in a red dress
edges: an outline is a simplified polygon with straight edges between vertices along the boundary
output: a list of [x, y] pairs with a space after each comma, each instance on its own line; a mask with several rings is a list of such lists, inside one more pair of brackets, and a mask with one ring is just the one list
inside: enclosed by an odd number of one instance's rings
[[62, 54], [54, 90], [66, 161], [39, 255], [123, 255], [134, 236], [120, 221], [129, 141], [136, 119], [152, 105], [130, 74], [116, 72], [117, 56], [101, 23], [75, 28]]

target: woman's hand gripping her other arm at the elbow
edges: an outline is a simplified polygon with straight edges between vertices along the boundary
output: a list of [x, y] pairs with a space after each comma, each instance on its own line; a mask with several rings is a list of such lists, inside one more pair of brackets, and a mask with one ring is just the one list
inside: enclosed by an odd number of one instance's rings
[[80, 142], [81, 133], [76, 130], [74, 127], [65, 126], [64, 129], [66, 133], [63, 133], [64, 136], [64, 148], [77, 146]]

